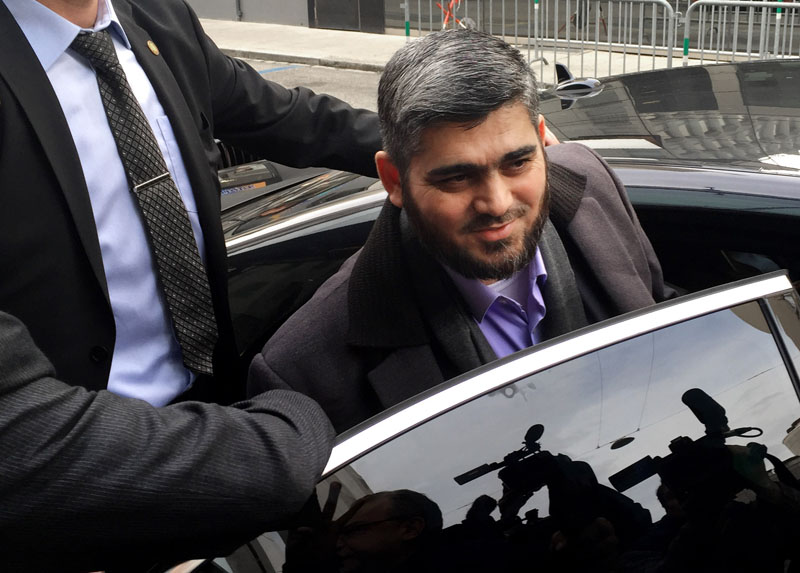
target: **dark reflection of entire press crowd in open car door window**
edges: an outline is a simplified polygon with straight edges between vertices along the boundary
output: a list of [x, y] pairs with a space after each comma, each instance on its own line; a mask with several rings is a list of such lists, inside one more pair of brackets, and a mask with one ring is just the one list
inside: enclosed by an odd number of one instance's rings
[[[444, 529], [437, 503], [407, 489], [362, 496], [333, 519], [340, 488], [332, 484], [325, 506], [315, 500], [311, 519], [289, 533], [283, 570], [800, 573], [797, 480], [765, 446], [726, 444], [759, 435], [758, 428], [731, 430], [724, 408], [698, 389], [683, 401], [705, 435], [676, 438], [668, 456], [610, 478], [625, 490], [660, 476], [666, 515], [655, 523], [639, 503], [599, 483], [585, 461], [542, 449], [545, 428], [534, 424], [520, 449], [454, 478], [465, 485], [497, 471], [502, 494], [479, 495], [460, 523]], [[549, 515], [523, 513], [544, 488]]]

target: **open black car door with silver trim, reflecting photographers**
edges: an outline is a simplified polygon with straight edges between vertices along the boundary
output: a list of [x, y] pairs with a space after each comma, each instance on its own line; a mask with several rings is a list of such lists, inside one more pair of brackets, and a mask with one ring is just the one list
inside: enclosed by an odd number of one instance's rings
[[441, 522], [427, 518], [436, 542], [402, 546], [413, 555], [396, 570], [783, 571], [800, 546], [800, 492], [780, 484], [788, 497], [764, 502], [741, 461], [756, 442], [798, 473], [799, 304], [771, 273], [445, 383], [340, 436], [318, 486], [320, 507], [337, 498], [333, 521], [314, 511], [310, 527], [265, 533], [197, 570], [391, 570], [381, 551], [401, 550], [385, 535], [407, 516], [362, 513], [376, 493], [404, 492]]

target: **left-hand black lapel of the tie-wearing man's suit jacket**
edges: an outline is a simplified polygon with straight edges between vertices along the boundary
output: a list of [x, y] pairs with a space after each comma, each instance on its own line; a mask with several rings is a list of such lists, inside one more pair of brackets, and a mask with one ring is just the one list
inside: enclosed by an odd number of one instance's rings
[[0, 58], [0, 75], [16, 96], [39, 139], [61, 186], [89, 264], [108, 300], [108, 286], [92, 205], [67, 120], [59, 113], [61, 105], [58, 97], [36, 54], [8, 8], [2, 3], [0, 50], [4, 54], [14, 54], [13, 57]]

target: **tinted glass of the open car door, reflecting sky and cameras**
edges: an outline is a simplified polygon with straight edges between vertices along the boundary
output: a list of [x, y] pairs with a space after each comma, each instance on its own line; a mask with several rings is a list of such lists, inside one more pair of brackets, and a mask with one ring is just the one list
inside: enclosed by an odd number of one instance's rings
[[[627, 570], [650, 570], [664, 559], [677, 529], [667, 528], [665, 534], [651, 525], [664, 517], [667, 502], [656, 496], [659, 476], [647, 477], [648, 471], [671, 468], [674, 473], [677, 467], [680, 479], [674, 483], [690, 484], [690, 494], [697, 497], [699, 492], [697, 499], [703, 502], [722, 496], [726, 508], [734, 498], [731, 482], [733, 489], [741, 489], [722, 443], [698, 442], [704, 426], [682, 396], [702, 389], [725, 409], [731, 428], [763, 431], [757, 435], [748, 430], [744, 437], [728, 439], [729, 444], [757, 441], [781, 460], [792, 458], [784, 441], [800, 416], [794, 382], [799, 332], [796, 299], [775, 297], [674, 324], [518, 379], [408, 431], [325, 479], [318, 488], [322, 502], [332, 484], [342, 488], [335, 517], [344, 533], [338, 541], [329, 538], [326, 545], [321, 538], [308, 537], [308, 530], [299, 537], [297, 532], [288, 537], [270, 533], [241, 549], [236, 559], [217, 560], [213, 567], [260, 571], [255, 563], [268, 559], [266, 570], [281, 570], [287, 539], [294, 551], [285, 571], [359, 570], [364, 565], [359, 560], [370, 559], [374, 566], [384, 556], [367, 551], [367, 541], [394, 531], [392, 520], [404, 516], [376, 518], [373, 511], [367, 519], [367, 503], [377, 499], [375, 492], [411, 490], [435, 503], [443, 532], [436, 538], [437, 548], [426, 549], [424, 558], [416, 556], [421, 560], [409, 562], [414, 567], [404, 571], [587, 570], [582, 567], [621, 555], [634, 559]], [[679, 436], [684, 438], [677, 444], [688, 442], [699, 457], [671, 455], [670, 442]], [[655, 459], [641, 463], [646, 456]], [[608, 487], [609, 478], [623, 470], [630, 474], [631, 468], [634, 479], [628, 481], [639, 483], [624, 495]], [[772, 515], [759, 514], [758, 507], [742, 503], [740, 508], [739, 503], [731, 507], [743, 517], [734, 515], [730, 523], [742, 531], [779, 523]], [[770, 529], [772, 541], [780, 538], [783, 543], [782, 535], [797, 533], [796, 509], [786, 515], [779, 531]], [[579, 558], [589, 562], [553, 557], [559, 540], [563, 544], [571, 539], [575, 546], [575, 532], [589, 530], [593, 541], [583, 540]], [[702, 538], [715, 539], [716, 534], [704, 532]], [[786, 546], [776, 547], [764, 547], [754, 538], [741, 549], [764, 565], [764, 555], [774, 556]], [[569, 553], [560, 558], [564, 555]], [[724, 558], [732, 555], [738, 553]], [[713, 562], [717, 557], [713, 547], [703, 550], [703, 559]]]

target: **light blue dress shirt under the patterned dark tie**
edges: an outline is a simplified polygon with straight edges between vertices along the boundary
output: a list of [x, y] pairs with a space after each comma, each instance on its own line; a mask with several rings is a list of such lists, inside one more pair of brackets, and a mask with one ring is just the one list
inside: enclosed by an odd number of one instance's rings
[[[186, 390], [194, 376], [183, 366], [156, 284], [146, 231], [128, 187], [94, 71], [68, 49], [81, 28], [33, 0], [3, 1], [50, 79], [86, 178], [117, 331], [108, 389], [162, 406]], [[175, 135], [108, 0], [100, 0], [92, 30], [104, 28], [111, 31], [128, 83], [158, 140], [205, 260], [197, 207]]]

